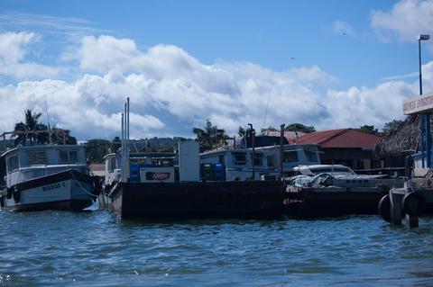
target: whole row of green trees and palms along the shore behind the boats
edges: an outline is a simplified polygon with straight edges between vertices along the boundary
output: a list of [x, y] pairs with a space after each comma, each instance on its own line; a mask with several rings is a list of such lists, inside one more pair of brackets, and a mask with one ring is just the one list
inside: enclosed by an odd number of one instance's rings
[[[77, 144], [77, 139], [70, 135], [70, 130], [61, 130], [59, 128], [49, 129], [49, 127], [39, 120], [41, 118], [41, 112], [32, 112], [32, 110], [24, 111], [24, 120], [15, 123], [14, 132], [11, 138], [14, 139], [14, 147], [18, 145], [33, 145], [33, 144], [63, 144], [63, 134], [65, 135], [66, 144]], [[367, 133], [372, 134], [385, 134], [390, 130], [395, 130], [401, 127], [403, 121], [393, 120], [384, 124], [381, 131], [374, 128], [373, 125], [363, 125], [359, 129]], [[50, 131], [49, 131], [50, 130]], [[303, 133], [309, 133], [316, 131], [314, 126], [304, 125], [299, 122], [290, 123], [285, 125], [284, 130], [286, 131], [297, 131]], [[44, 132], [46, 131], [46, 132]], [[244, 138], [247, 134], [247, 129], [239, 126], [237, 136]], [[266, 131], [279, 131], [275, 127], [269, 126], [266, 129], [260, 130], [262, 133]], [[193, 128], [192, 133], [196, 136], [199, 142], [200, 152], [211, 150], [215, 148], [224, 147], [227, 144], [229, 137], [226, 134], [226, 130], [220, 129], [217, 125], [214, 125], [209, 119], [207, 119], [203, 128]], [[50, 139], [51, 138], [51, 139]], [[131, 142], [131, 148], [133, 151], [165, 151], [174, 152], [177, 148], [178, 142], [185, 140], [183, 138], [152, 138], [152, 139], [140, 139], [133, 140]], [[84, 142], [86, 146], [86, 155], [88, 163], [98, 163], [103, 161], [103, 157], [108, 152], [115, 152], [120, 148], [120, 139], [115, 137], [112, 140], [107, 139], [88, 139]]]

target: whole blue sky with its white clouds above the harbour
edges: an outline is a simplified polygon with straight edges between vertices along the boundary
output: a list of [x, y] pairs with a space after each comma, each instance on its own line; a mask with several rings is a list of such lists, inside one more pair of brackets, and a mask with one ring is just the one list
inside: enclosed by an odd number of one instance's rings
[[[133, 139], [190, 138], [207, 119], [229, 135], [382, 129], [419, 94], [419, 34], [433, 36], [433, 1], [2, 0], [0, 132], [32, 109], [113, 139], [126, 97]], [[422, 41], [424, 94], [432, 53]]]

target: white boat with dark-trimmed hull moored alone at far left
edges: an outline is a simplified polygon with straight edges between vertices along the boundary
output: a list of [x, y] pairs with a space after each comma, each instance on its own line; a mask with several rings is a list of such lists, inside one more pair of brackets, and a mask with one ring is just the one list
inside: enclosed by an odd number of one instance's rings
[[0, 203], [12, 211], [81, 211], [97, 196], [84, 147], [46, 145], [7, 150]]

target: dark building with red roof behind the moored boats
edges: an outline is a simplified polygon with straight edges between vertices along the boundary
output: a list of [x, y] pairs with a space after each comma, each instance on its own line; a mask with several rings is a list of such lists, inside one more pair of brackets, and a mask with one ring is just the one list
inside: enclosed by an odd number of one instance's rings
[[373, 155], [381, 136], [355, 129], [322, 130], [306, 133], [290, 144], [316, 144], [321, 150], [322, 164], [345, 165], [353, 169], [381, 168], [383, 163]]

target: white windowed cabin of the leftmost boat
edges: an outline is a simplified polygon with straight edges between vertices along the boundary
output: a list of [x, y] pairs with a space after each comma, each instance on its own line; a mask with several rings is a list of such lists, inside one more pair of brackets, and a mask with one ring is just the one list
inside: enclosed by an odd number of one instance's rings
[[44, 175], [56, 174], [68, 168], [88, 173], [83, 146], [20, 146], [7, 150], [2, 157], [5, 160], [7, 186]]

